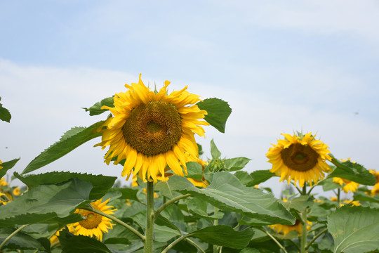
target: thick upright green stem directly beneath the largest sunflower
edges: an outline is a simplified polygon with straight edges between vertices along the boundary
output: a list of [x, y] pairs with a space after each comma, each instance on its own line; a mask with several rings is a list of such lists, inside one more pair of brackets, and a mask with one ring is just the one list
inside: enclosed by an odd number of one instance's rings
[[145, 253], [153, 252], [154, 236], [154, 183], [147, 181], [147, 214], [146, 214]]

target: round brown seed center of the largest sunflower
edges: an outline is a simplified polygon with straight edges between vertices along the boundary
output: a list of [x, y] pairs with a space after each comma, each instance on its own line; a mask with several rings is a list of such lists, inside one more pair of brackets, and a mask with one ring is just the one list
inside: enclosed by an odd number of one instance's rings
[[179, 141], [182, 121], [175, 105], [152, 101], [134, 108], [122, 131], [126, 143], [138, 153], [158, 155]]

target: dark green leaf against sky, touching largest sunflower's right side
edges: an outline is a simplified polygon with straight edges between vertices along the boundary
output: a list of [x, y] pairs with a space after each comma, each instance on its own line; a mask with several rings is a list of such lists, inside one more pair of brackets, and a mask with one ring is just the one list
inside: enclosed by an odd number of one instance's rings
[[207, 98], [203, 102], [197, 103], [200, 110], [206, 110], [208, 115], [204, 117], [206, 122], [214, 126], [221, 133], [225, 133], [225, 124], [232, 109], [227, 102], [218, 98]]

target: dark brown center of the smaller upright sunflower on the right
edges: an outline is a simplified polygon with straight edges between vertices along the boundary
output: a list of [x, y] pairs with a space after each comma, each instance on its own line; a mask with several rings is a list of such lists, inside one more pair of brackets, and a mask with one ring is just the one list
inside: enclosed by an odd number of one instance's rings
[[281, 150], [281, 159], [284, 164], [295, 171], [309, 171], [317, 164], [319, 154], [309, 145], [300, 143], [291, 144], [288, 148]]

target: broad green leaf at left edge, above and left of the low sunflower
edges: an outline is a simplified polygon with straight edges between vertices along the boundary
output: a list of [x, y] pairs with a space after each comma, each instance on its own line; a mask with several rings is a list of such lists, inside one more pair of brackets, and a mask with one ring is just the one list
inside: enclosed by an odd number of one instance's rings
[[36, 186], [0, 206], [0, 226], [81, 221], [80, 215], [72, 213], [79, 205], [89, 202], [91, 188], [91, 183], [79, 179], [58, 186]]

